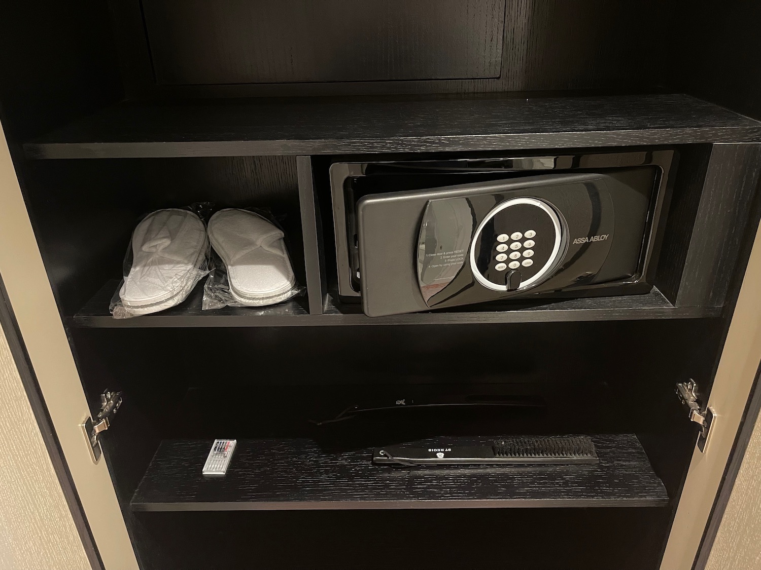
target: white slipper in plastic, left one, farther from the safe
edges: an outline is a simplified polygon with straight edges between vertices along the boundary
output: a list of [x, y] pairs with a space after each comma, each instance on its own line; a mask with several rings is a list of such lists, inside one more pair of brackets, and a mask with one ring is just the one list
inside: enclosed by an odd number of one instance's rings
[[183, 302], [205, 271], [208, 240], [201, 219], [170, 208], [148, 214], [132, 233], [132, 269], [119, 290], [130, 315]]

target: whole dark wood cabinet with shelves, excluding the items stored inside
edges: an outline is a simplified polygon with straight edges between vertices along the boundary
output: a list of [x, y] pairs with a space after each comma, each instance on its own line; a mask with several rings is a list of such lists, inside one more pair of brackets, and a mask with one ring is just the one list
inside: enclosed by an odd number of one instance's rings
[[[19, 270], [7, 225], [0, 275], [103, 568], [692, 568], [759, 405], [761, 10], [741, 4], [9, 6], [0, 119], [21, 194], [0, 207], [42, 263]], [[338, 294], [331, 163], [656, 150], [676, 158], [648, 293], [375, 318]], [[140, 217], [197, 202], [269, 208], [303, 295], [203, 310], [199, 283], [113, 318]], [[705, 451], [675, 393], [691, 378], [717, 418]], [[95, 464], [70, 416], [104, 391], [123, 404]], [[347, 413], [447, 398], [483, 405]], [[378, 445], [515, 434], [588, 434], [600, 462], [371, 463]], [[237, 449], [209, 479], [216, 438]]]

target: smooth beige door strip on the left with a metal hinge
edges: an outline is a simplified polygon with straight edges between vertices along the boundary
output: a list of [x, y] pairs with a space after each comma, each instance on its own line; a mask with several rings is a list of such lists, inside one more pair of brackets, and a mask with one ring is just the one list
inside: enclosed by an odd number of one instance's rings
[[[53, 290], [43, 267], [2, 128], [0, 276], [103, 565], [106, 570], [136, 570], [135, 553], [106, 462], [93, 463], [79, 427], [90, 415], [88, 402], [53, 299]], [[5, 487], [4, 492], [7, 492], [5, 484], [0, 487]]]

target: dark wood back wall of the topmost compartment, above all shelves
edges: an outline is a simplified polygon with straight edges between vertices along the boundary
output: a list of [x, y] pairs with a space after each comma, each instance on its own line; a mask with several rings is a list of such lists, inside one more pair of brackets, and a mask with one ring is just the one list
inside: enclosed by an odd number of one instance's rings
[[[686, 27], [683, 23], [685, 12], [689, 13], [672, 2], [658, 0], [506, 0], [494, 3], [473, 0], [365, 0], [361, 3], [331, 0], [320, 2], [320, 11], [316, 14], [308, 9], [314, 4], [312, 2], [303, 3], [307, 7], [304, 11], [292, 9], [298, 6], [296, 1], [275, 4], [224, 0], [216, 4], [227, 7], [234, 17], [220, 14], [213, 2], [110, 2], [116, 14], [116, 43], [121, 51], [120, 60], [126, 67], [125, 83], [129, 93], [148, 98], [589, 89], [639, 93], [668, 85], [667, 77], [664, 77], [670, 63], [668, 44], [671, 36], [681, 36], [680, 26]], [[145, 21], [143, 6], [147, 8]], [[179, 6], [179, 9], [167, 13], [167, 8], [172, 6]], [[198, 6], [199, 14], [193, 14], [187, 6]], [[361, 6], [361, 10], [357, 10], [357, 6]], [[346, 8], [343, 13], [335, 17], [335, 21], [330, 21], [328, 16], [336, 14], [342, 7]], [[398, 15], [384, 14], [387, 7], [396, 9]], [[492, 9], [490, 21], [484, 21], [483, 15], [488, 14], [489, 8]], [[154, 20], [152, 16], [157, 12], [159, 19]], [[278, 12], [285, 17], [285, 23], [272, 17]], [[360, 17], [358, 12], [361, 12]], [[255, 14], [256, 21], [252, 21], [252, 14]], [[171, 18], [174, 21], [166, 21]], [[305, 19], [310, 21], [304, 23]], [[461, 32], [453, 30], [452, 22], [462, 30], [475, 33], [464, 38]], [[256, 38], [262, 24], [269, 24], [262, 34], [271, 38], [263, 46]], [[161, 37], [158, 30], [161, 27], [170, 37]], [[310, 27], [318, 28], [319, 33], [314, 33]], [[444, 49], [438, 49], [441, 38], [432, 33], [437, 27], [439, 35], [448, 36], [448, 45]], [[336, 28], [342, 29], [340, 41], [336, 41]], [[287, 45], [281, 37], [275, 36], [284, 29], [287, 30]], [[415, 30], [414, 36], [412, 30]], [[241, 37], [222, 36], [236, 33]], [[151, 36], [150, 46], [148, 36]], [[159, 66], [160, 81], [168, 79], [163, 72], [167, 65], [169, 71], [183, 71], [187, 79], [195, 76], [201, 81], [213, 81], [214, 78], [219, 81], [223, 74], [237, 81], [292, 81], [295, 78], [311, 81], [157, 84], [151, 65], [156, 42], [160, 53], [158, 61], [155, 55], [153, 59]], [[375, 45], [368, 46], [368, 43]], [[420, 46], [422, 43], [428, 43], [427, 51], [434, 53], [426, 53]], [[473, 53], [474, 43], [479, 46], [477, 55]], [[261, 46], [261, 49], [254, 52], [252, 44]], [[231, 54], [233, 46], [237, 46], [238, 54], [242, 54], [239, 61], [235, 61]], [[459, 52], [453, 52], [454, 46]], [[329, 50], [332, 57], [330, 67], [327, 67], [323, 53]], [[167, 61], [170, 54], [174, 54], [175, 61]], [[288, 58], [290, 54], [294, 57]], [[386, 54], [388, 62], [374, 61], [378, 54]], [[317, 69], [304, 69], [301, 62], [293, 61], [300, 55], [305, 61], [314, 62]], [[687, 59], [683, 56], [678, 61], [684, 65]], [[197, 69], [191, 68], [194, 64]], [[491, 72], [492, 65], [498, 68], [493, 78], [476, 77]], [[457, 79], [449, 74], [449, 79], [431, 79], [446, 77], [443, 72], [455, 71], [455, 66], [457, 70], [467, 71], [470, 78]], [[434, 75], [433, 72], [437, 73]], [[328, 81], [328, 78], [350, 77], [349, 74], [357, 78], [386, 77], [392, 81]], [[393, 81], [393, 78], [401, 77], [407, 79]]]

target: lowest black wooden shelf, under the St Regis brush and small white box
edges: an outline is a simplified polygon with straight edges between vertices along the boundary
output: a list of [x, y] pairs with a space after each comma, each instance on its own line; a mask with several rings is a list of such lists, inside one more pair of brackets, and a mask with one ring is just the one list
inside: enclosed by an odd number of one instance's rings
[[[600, 463], [419, 467], [371, 463], [372, 450], [309, 439], [247, 439], [224, 477], [201, 474], [211, 441], [161, 442], [133, 511], [349, 508], [654, 507], [668, 501], [635, 435], [594, 435]], [[433, 442], [433, 440], [431, 440]]]

